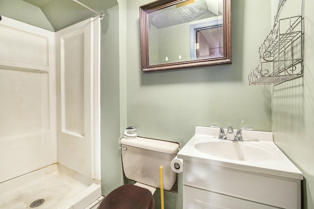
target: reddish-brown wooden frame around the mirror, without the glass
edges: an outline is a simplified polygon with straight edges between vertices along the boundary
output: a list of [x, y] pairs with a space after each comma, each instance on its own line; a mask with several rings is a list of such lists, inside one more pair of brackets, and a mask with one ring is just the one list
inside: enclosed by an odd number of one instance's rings
[[231, 0], [223, 0], [223, 56], [218, 58], [191, 59], [149, 65], [148, 45], [148, 14], [168, 6], [176, 5], [186, 0], [156, 0], [140, 6], [140, 35], [141, 35], [141, 63], [143, 72], [173, 70], [197, 66], [218, 65], [232, 62], [231, 49]]

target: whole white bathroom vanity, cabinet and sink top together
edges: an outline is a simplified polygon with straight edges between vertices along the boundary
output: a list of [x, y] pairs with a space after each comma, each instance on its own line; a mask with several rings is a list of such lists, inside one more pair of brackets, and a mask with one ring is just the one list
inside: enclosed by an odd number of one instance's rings
[[242, 131], [243, 141], [218, 135], [217, 128], [196, 127], [178, 153], [183, 209], [301, 209], [303, 175], [271, 132]]

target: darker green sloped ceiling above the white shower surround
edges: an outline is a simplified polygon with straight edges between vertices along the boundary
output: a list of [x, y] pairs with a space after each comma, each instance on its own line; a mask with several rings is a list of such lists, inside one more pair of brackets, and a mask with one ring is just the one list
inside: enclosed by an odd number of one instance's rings
[[[73, 0], [23, 0], [39, 7], [55, 31], [71, 26], [97, 14], [89, 11]], [[78, 0], [93, 10], [103, 13], [118, 5], [117, 0]]]

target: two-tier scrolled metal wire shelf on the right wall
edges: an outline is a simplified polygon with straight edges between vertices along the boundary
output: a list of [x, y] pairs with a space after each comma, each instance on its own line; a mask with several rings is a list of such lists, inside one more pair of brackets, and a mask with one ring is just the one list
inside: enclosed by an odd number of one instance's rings
[[277, 84], [303, 75], [302, 15], [279, 19], [259, 49], [260, 63], [249, 73], [249, 85]]

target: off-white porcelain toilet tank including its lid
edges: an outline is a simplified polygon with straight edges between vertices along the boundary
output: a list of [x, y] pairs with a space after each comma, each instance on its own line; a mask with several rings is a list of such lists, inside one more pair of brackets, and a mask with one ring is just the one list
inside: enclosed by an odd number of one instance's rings
[[163, 188], [170, 190], [177, 174], [171, 169], [171, 160], [177, 156], [179, 144], [137, 137], [122, 138], [123, 171], [128, 179], [160, 188], [159, 167], [163, 168]]

